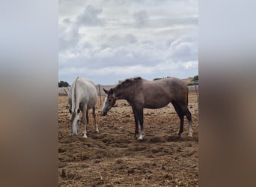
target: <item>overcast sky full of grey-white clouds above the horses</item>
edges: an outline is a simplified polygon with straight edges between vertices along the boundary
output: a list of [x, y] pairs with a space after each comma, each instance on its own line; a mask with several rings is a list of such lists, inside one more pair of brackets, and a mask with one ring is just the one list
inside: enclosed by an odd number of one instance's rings
[[198, 1], [60, 0], [58, 79], [198, 75]]

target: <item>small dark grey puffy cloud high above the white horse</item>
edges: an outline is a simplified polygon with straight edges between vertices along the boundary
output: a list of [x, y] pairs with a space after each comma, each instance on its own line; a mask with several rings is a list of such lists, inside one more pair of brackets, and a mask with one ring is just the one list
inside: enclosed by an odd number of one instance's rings
[[98, 16], [103, 12], [102, 8], [93, 7], [88, 5], [85, 10], [77, 16], [76, 22], [78, 25], [97, 26], [104, 25], [104, 20]]

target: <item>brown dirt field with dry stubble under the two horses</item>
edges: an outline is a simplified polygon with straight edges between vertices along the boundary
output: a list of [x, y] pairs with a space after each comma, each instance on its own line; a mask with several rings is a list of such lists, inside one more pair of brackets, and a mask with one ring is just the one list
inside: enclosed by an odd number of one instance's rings
[[[102, 97], [103, 102], [103, 97]], [[103, 103], [102, 103], [103, 105]], [[180, 120], [170, 104], [157, 110], [144, 109], [144, 140], [133, 137], [132, 108], [118, 100], [107, 116], [100, 116], [97, 103], [95, 132], [89, 111], [88, 138], [70, 136], [67, 96], [58, 97], [59, 186], [198, 186], [198, 102], [189, 92], [193, 138], [188, 121], [177, 138]]]

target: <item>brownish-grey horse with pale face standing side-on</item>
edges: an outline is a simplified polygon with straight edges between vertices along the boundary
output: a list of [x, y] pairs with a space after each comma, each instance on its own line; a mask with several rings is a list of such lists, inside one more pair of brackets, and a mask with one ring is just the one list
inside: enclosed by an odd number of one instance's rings
[[192, 119], [188, 106], [188, 88], [186, 84], [177, 78], [160, 79], [147, 81], [141, 77], [126, 79], [109, 91], [103, 89], [107, 96], [101, 111], [106, 115], [110, 108], [115, 105], [117, 99], [126, 99], [132, 106], [135, 119], [135, 137], [138, 134], [138, 121], [141, 125], [141, 135], [138, 140], [144, 137], [143, 108], [162, 108], [169, 102], [175, 108], [180, 117], [180, 136], [183, 132], [184, 115], [189, 120], [189, 136], [192, 136]]

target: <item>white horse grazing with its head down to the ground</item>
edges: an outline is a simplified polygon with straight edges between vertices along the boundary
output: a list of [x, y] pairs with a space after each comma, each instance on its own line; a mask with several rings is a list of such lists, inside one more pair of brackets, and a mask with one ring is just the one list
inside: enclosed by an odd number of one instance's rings
[[93, 109], [94, 125], [96, 132], [99, 132], [96, 123], [95, 106], [97, 103], [97, 91], [90, 79], [79, 78], [73, 82], [68, 93], [68, 102], [70, 104], [70, 126], [71, 135], [77, 135], [79, 126], [79, 112], [82, 111], [82, 123], [84, 124], [84, 138], [87, 138], [86, 125], [88, 123], [88, 109]]

